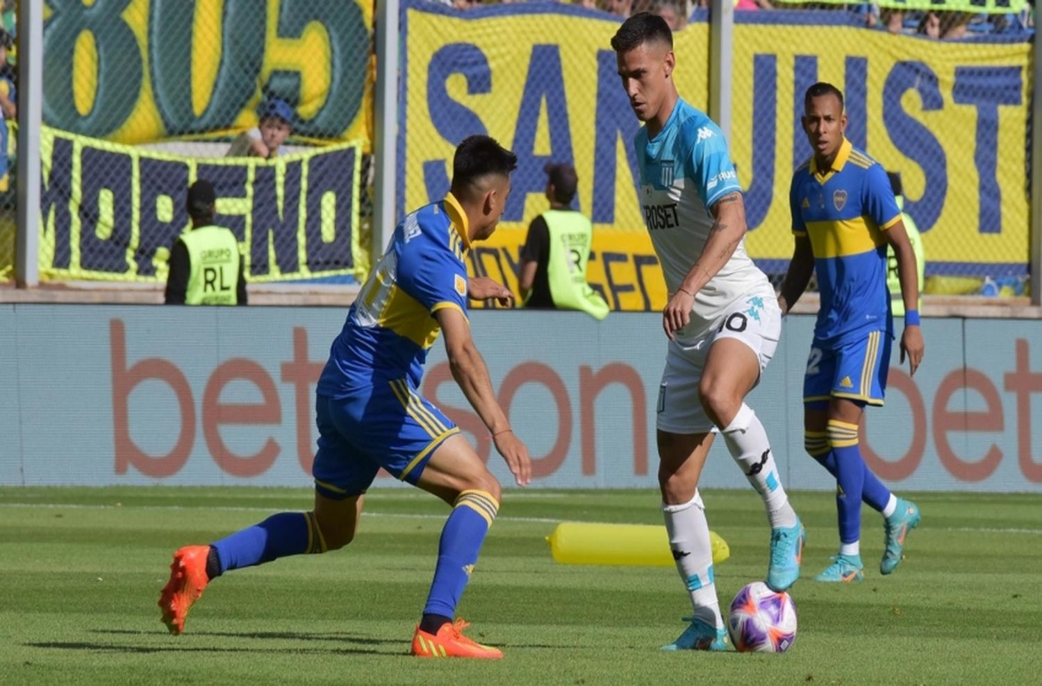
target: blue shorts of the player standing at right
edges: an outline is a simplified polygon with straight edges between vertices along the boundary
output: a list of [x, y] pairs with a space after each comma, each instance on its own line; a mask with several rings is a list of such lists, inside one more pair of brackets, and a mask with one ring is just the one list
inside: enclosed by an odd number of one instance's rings
[[815, 340], [803, 377], [803, 403], [847, 398], [883, 405], [890, 371], [890, 334], [871, 331], [864, 337], [837, 346]]

